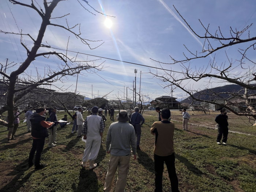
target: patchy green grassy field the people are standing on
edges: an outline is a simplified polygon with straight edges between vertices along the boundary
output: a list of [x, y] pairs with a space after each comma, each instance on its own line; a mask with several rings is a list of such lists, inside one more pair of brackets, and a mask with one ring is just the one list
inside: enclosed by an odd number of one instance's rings
[[[191, 112], [189, 112], [191, 113]], [[215, 114], [191, 113], [189, 123], [214, 127]], [[58, 113], [58, 119], [64, 112]], [[155, 111], [144, 112], [141, 149], [138, 161], [131, 159], [127, 180], [127, 192], [154, 191], [154, 136], [150, 127], [157, 120]], [[189, 125], [189, 131], [182, 131], [180, 112], [172, 112], [176, 130], [174, 148], [179, 189], [182, 192], [254, 192], [256, 189], [256, 132], [246, 118], [232, 114], [229, 129], [251, 135], [229, 133], [227, 146], [217, 145], [217, 130]], [[84, 116], [85, 117], [85, 116]], [[20, 119], [24, 115], [20, 116]], [[68, 117], [70, 118], [70, 117]], [[99, 164], [93, 171], [81, 169], [84, 143], [71, 133], [72, 125], [57, 129], [57, 146], [45, 148], [41, 162], [48, 163], [42, 170], [27, 166], [32, 139], [26, 132], [25, 123], [20, 123], [16, 140], [6, 143], [7, 130], [0, 127], [0, 191], [86, 191], [102, 192], [108, 170], [109, 154], [105, 153], [105, 139], [109, 125], [107, 117], [98, 158]], [[116, 121], [116, 119], [115, 119]], [[116, 182], [116, 178], [114, 183]], [[163, 191], [170, 188], [167, 170], [163, 174]], [[114, 191], [114, 184], [113, 184]]]

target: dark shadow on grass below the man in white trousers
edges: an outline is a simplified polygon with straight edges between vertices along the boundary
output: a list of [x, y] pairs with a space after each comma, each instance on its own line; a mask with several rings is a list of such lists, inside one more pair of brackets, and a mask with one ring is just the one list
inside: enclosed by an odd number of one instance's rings
[[81, 169], [77, 188], [72, 185], [73, 191], [98, 192], [98, 178], [93, 170]]

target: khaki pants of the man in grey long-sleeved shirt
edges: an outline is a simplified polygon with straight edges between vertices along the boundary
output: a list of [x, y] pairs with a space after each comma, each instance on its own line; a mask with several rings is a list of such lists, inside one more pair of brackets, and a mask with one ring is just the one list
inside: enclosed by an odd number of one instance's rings
[[127, 156], [113, 156], [110, 155], [109, 169], [106, 175], [104, 191], [109, 192], [111, 190], [114, 176], [118, 167], [118, 176], [116, 181], [116, 192], [124, 192], [127, 175], [129, 172], [131, 155]]

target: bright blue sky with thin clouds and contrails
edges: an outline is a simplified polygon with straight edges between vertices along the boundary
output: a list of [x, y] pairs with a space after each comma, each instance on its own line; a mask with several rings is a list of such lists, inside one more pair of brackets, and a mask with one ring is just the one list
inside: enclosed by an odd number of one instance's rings
[[[79, 1], [89, 11], [95, 13], [84, 1]], [[22, 2], [30, 3], [31, 1], [25, 0]], [[189, 25], [201, 35], [204, 34], [204, 31], [198, 19], [206, 26], [210, 23], [210, 30], [213, 33], [220, 26], [222, 33], [226, 35], [229, 34], [230, 26], [241, 30], [244, 26], [256, 21], [256, 3], [254, 0], [88, 0], [88, 2], [96, 10], [114, 16], [109, 17], [113, 22], [113, 26], [110, 29], [104, 25], [106, 16], [97, 13], [95, 13], [96, 16], [90, 14], [76, 0], [60, 2], [52, 17], [70, 13], [65, 17], [69, 26], [81, 23], [80, 29], [84, 38], [102, 40], [104, 42], [99, 48], [90, 50], [88, 46], [82, 44], [72, 34], [53, 26], [48, 27], [43, 39], [44, 44], [48, 42], [52, 47], [65, 49], [67, 47], [67, 39], [70, 36], [68, 49], [75, 52], [180, 71], [179, 64], [160, 65], [150, 60], [152, 58], [163, 63], [170, 63], [169, 55], [182, 59], [182, 52], [185, 51], [183, 44], [192, 50], [202, 50], [203, 40], [191, 34], [191, 31], [184, 25], [183, 20], [174, 10], [173, 5]], [[43, 7], [41, 0], [36, 0], [35, 4]], [[1, 30], [15, 33], [22, 30], [23, 33], [29, 33], [34, 38], [36, 37], [41, 18], [35, 11], [20, 5], [12, 5], [8, 0], [2, 0], [0, 1], [0, 14]], [[66, 25], [64, 18], [52, 19], [52, 23]], [[255, 36], [255, 29], [254, 23], [251, 27], [251, 36]], [[24, 41], [31, 47], [32, 42], [30, 39], [24, 37]], [[6, 58], [9, 61], [18, 63], [26, 58], [26, 51], [20, 45], [20, 36], [0, 33], [0, 44], [1, 64], [5, 64]], [[91, 46], [97, 47], [100, 44], [101, 42], [92, 42]], [[240, 58], [237, 48], [225, 49], [234, 60]], [[50, 50], [53, 49], [48, 49], [48, 51]], [[69, 54], [71, 56], [76, 55], [75, 53]], [[197, 68], [207, 66], [212, 57], [191, 61], [190, 65]], [[78, 58], [86, 60], [87, 56], [79, 54]], [[220, 64], [227, 60], [223, 51], [216, 52], [216, 58]], [[99, 58], [88, 56], [88, 60], [94, 59]], [[255, 60], [253, 54], [252, 59]], [[103, 61], [105, 61], [103, 63], [104, 69], [97, 74], [87, 72], [79, 74], [78, 93], [91, 98], [93, 85], [93, 97], [98, 97], [98, 95], [101, 97], [112, 91], [107, 96], [108, 99], [115, 99], [118, 96], [126, 99], [126, 87], [129, 87], [128, 98], [132, 98], [131, 90], [135, 78], [134, 69], [137, 69], [137, 91], [139, 91], [140, 71], [142, 71], [140, 92], [143, 95], [148, 95], [148, 100], [162, 95], [169, 95], [170, 88], [163, 89], [165, 84], [149, 74], [148, 67], [105, 59], [95, 61], [95, 64], [100, 64]], [[35, 68], [39, 73], [44, 74], [45, 65], [50, 65], [54, 69], [57, 68], [57, 64], [61, 64], [57, 57], [50, 56], [49, 59], [37, 58], [24, 75], [33, 78]], [[8, 73], [10, 74], [13, 69], [8, 69]], [[161, 72], [161, 70], [156, 71], [156, 69], [151, 69], [151, 71], [154, 73]], [[234, 71], [234, 73], [238, 74], [240, 72]], [[75, 91], [75, 84], [76, 77], [69, 77], [65, 80], [65, 83], [57, 82], [54, 85], [57, 87], [64, 86], [68, 91]], [[204, 82], [197, 82], [192, 83], [192, 86], [200, 88], [203, 87], [203, 84]], [[225, 85], [225, 83], [212, 84], [212, 86], [220, 85]], [[54, 87], [51, 88], [55, 89]], [[175, 89], [173, 97], [181, 99], [185, 98], [186, 95], [181, 90]]]

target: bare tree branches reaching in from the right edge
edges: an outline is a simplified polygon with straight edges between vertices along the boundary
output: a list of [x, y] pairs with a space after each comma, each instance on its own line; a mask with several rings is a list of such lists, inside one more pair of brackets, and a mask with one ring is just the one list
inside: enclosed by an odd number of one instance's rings
[[[175, 7], [174, 7], [175, 8]], [[175, 8], [177, 11], [177, 9]], [[224, 34], [221, 27], [213, 32], [210, 30], [210, 24], [205, 26], [199, 19], [200, 25], [203, 27], [204, 34], [198, 34], [189, 23], [177, 11], [188, 28], [196, 37], [204, 39], [202, 50], [189, 49], [186, 45], [184, 58], [176, 59], [170, 56], [170, 63], [159, 64], [179, 64], [181, 71], [165, 71], [164, 73], [151, 72], [155, 78], [165, 82], [164, 87], [170, 87], [172, 84], [188, 94], [194, 101], [201, 101], [220, 105], [230, 110], [239, 116], [247, 116], [251, 120], [256, 119], [256, 68], [255, 60], [250, 58], [250, 55], [255, 55], [256, 37], [251, 37], [250, 27], [245, 26], [242, 30], [230, 27], [229, 33]], [[224, 51], [223, 48], [234, 47], [241, 45], [237, 49], [240, 59], [233, 60], [229, 58], [225, 51], [227, 62], [218, 64], [217, 57], [214, 53]], [[210, 56], [212, 59], [203, 67], [191, 67], [189, 61], [197, 60]], [[154, 59], [153, 59], [154, 60]], [[154, 60], [156, 61], [156, 60]], [[238, 71], [238, 72], [236, 72]], [[194, 88], [195, 82], [204, 82], [204, 87], [200, 89]], [[208, 82], [208, 83], [206, 83]], [[241, 87], [239, 91], [212, 91], [211, 84], [215, 83], [236, 84]], [[205, 91], [202, 91], [205, 90]], [[206, 97], [207, 95], [207, 97]], [[225, 97], [223, 97], [225, 95]], [[230, 100], [231, 97], [239, 98], [240, 102], [234, 103]], [[236, 106], [237, 105], [237, 106]], [[244, 106], [242, 106], [244, 105]], [[236, 107], [235, 107], [236, 106]], [[238, 109], [238, 110], [237, 110]]]

